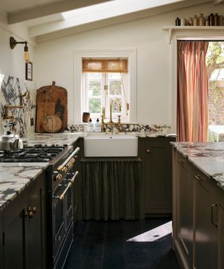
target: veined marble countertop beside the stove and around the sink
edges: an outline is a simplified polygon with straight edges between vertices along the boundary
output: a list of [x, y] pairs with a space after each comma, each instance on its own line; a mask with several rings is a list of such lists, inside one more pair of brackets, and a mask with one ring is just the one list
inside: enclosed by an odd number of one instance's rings
[[[105, 135], [106, 133], [91, 133], [95, 135]], [[125, 133], [119, 133], [125, 135]], [[128, 133], [133, 134], [133, 133]], [[28, 146], [34, 144], [58, 144], [58, 145], [71, 145], [79, 137], [85, 137], [85, 132], [61, 132], [54, 134], [41, 134], [34, 133], [29, 137], [23, 137], [22, 142]], [[146, 134], [143, 132], [134, 133], [138, 137], [157, 137], [158, 135], [175, 136], [172, 134], [162, 134], [161, 132], [154, 132]], [[0, 211], [8, 204], [8, 202], [15, 199], [17, 195], [28, 186], [31, 181], [36, 179], [41, 172], [43, 172], [48, 163], [0, 163]]]

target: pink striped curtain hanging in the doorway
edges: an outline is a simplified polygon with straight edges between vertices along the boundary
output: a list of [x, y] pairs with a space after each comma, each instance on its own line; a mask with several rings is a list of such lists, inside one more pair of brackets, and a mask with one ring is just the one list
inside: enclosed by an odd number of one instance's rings
[[180, 142], [207, 142], [208, 41], [178, 41], [177, 135]]

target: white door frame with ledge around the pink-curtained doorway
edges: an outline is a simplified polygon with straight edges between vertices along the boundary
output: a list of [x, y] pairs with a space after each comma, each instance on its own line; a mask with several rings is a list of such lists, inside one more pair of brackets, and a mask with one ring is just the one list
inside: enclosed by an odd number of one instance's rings
[[[222, 29], [169, 29], [169, 38], [170, 38], [170, 48], [169, 48], [169, 55], [170, 55], [170, 89], [171, 90], [171, 102], [173, 104], [172, 113], [172, 126], [174, 126], [174, 132], [176, 132], [176, 118], [177, 118], [177, 41], [178, 40], [212, 40], [212, 41], [224, 41], [224, 28]], [[168, 42], [168, 41], [167, 41]]]

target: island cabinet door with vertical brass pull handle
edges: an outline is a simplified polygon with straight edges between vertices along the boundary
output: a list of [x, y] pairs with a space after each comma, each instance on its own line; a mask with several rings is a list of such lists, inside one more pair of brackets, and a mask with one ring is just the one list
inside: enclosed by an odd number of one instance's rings
[[218, 268], [218, 206], [211, 179], [195, 170], [195, 268]]

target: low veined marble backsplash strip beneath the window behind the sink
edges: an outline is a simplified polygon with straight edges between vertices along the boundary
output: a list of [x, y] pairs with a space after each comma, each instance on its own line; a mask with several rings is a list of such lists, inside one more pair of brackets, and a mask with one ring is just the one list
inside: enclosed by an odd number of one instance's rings
[[[71, 132], [85, 132], [87, 130], [86, 124], [69, 124], [67, 129]], [[102, 126], [102, 132], [162, 132], [167, 133], [171, 131], [169, 125], [144, 125], [144, 124], [121, 124], [120, 129], [117, 125]]]

